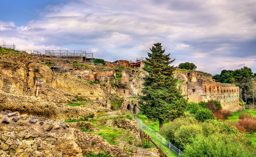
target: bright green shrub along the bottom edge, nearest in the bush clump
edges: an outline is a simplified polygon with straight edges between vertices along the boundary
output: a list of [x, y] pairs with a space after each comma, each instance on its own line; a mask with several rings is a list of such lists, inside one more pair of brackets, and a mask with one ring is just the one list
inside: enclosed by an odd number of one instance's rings
[[197, 136], [185, 146], [182, 156], [256, 156], [256, 151], [239, 134], [219, 133]]

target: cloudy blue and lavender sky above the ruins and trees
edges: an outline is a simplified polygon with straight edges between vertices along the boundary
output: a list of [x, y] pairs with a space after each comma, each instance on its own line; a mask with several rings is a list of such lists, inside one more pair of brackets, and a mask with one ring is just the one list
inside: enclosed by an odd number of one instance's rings
[[256, 73], [255, 0], [0, 1], [0, 45], [86, 50], [107, 61], [147, 57], [161, 42], [173, 64]]

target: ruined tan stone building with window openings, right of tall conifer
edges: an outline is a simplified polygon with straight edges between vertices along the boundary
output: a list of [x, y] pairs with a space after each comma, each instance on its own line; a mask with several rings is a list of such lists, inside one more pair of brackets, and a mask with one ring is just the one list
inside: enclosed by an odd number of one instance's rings
[[175, 77], [188, 102], [218, 100], [224, 109], [242, 109], [239, 105], [239, 87], [234, 84], [215, 82], [210, 74], [190, 70], [178, 70]]

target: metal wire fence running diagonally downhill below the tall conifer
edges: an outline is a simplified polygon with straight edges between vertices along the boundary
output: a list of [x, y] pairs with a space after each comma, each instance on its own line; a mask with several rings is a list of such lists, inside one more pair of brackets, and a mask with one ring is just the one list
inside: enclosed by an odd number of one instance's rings
[[156, 143], [156, 145], [162, 149], [162, 151], [169, 157], [169, 156], [180, 156], [182, 151], [172, 145], [170, 142], [166, 141], [159, 133], [152, 130], [150, 127], [145, 125], [141, 119], [135, 117], [136, 121], [138, 122], [139, 128], [141, 128], [150, 138], [152, 141]]

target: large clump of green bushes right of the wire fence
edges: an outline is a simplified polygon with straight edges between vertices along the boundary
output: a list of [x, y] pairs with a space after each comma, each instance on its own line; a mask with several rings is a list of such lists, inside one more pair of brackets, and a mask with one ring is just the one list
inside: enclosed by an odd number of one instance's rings
[[200, 122], [188, 113], [164, 125], [160, 134], [183, 150], [182, 156], [255, 155], [245, 134], [236, 127], [217, 120]]

